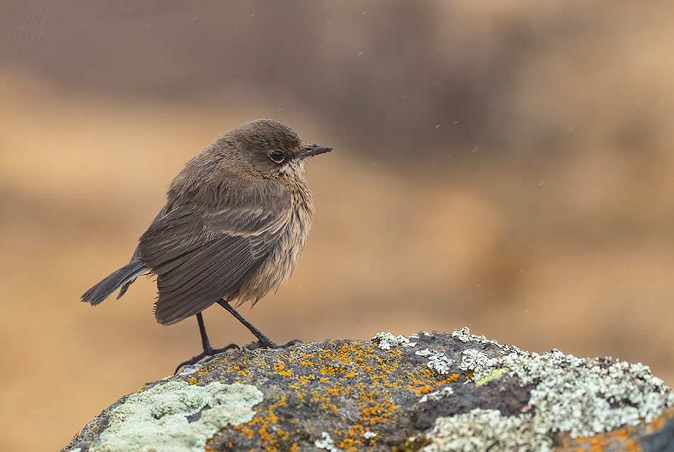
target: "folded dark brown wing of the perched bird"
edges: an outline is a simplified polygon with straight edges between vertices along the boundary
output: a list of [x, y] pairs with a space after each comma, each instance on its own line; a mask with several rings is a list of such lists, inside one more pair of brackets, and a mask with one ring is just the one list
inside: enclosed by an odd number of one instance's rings
[[277, 243], [291, 210], [287, 195], [273, 205], [217, 211], [185, 204], [153, 222], [138, 249], [158, 277], [157, 321], [175, 324], [236, 294]]

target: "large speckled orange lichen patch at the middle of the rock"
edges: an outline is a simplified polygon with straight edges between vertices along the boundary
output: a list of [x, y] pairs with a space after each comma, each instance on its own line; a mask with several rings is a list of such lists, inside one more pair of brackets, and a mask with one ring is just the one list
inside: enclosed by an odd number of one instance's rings
[[[224, 367], [241, 375], [244, 384], [250, 384], [245, 381], [245, 377], [253, 375], [250, 373], [253, 369], [246, 367], [250, 361], [239, 358], [236, 365], [232, 361], [229, 361], [231, 365], [227, 365], [228, 360], [234, 359], [234, 356], [225, 355]], [[324, 409], [338, 413], [339, 407], [333, 402], [333, 398], [340, 395], [349, 397], [358, 407], [358, 419], [348, 420], [347, 417], [342, 417], [340, 428], [326, 429], [326, 433], [331, 435], [339, 448], [355, 451], [363, 448], [364, 441], [372, 445], [373, 439], [365, 440], [365, 431], [372, 429], [376, 433], [378, 426], [394, 425], [402, 417], [399, 405], [393, 403], [391, 390], [407, 388], [412, 394], [421, 397], [432, 392], [434, 387], [458, 382], [460, 378], [458, 374], [448, 377], [433, 375], [422, 363], [411, 365], [404, 360], [402, 350], [396, 349], [382, 354], [382, 351], [375, 350], [369, 344], [359, 342], [336, 346], [335, 341], [328, 341], [326, 346], [311, 353], [306, 353], [302, 348], [290, 349], [282, 359], [266, 358], [266, 363], [265, 360], [258, 361], [257, 357], [252, 359], [255, 361], [255, 369], [260, 365], [272, 365], [270, 373], [289, 378], [291, 384], [287, 387], [296, 390], [288, 399], [284, 395], [277, 397], [275, 403], [259, 411], [245, 425], [234, 427], [234, 431], [248, 439], [254, 440], [257, 437], [267, 452], [297, 451], [300, 448], [292, 439], [301, 432], [298, 429], [297, 433], [288, 434], [280, 429], [279, 417], [275, 414], [277, 407], [298, 411]], [[273, 364], [269, 362], [270, 359], [274, 360]], [[290, 365], [294, 368], [289, 367]], [[206, 365], [200, 371], [205, 371], [204, 368]], [[298, 368], [310, 368], [312, 373], [299, 375], [302, 372]], [[309, 388], [311, 390], [307, 391]], [[300, 425], [299, 417], [288, 420], [287, 414], [284, 414], [284, 419], [284, 425], [287, 422], [294, 422], [298, 427]], [[307, 424], [310, 421], [311, 419], [307, 419]], [[306, 430], [302, 435], [306, 434], [314, 435], [315, 431]]]

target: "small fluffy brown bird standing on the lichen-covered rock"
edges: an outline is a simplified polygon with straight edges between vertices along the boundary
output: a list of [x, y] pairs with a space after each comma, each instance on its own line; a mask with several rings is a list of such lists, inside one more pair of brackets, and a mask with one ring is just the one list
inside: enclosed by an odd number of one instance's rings
[[[203, 353], [211, 347], [201, 312], [219, 303], [258, 338], [277, 345], [231, 306], [255, 305], [291, 275], [314, 216], [304, 159], [332, 150], [304, 144], [285, 124], [258, 119], [224, 133], [193, 158], [168, 189], [166, 205], [140, 236], [131, 262], [82, 295], [96, 306], [136, 277], [157, 277], [154, 314], [162, 325], [197, 316]], [[299, 341], [291, 341], [287, 346]]]

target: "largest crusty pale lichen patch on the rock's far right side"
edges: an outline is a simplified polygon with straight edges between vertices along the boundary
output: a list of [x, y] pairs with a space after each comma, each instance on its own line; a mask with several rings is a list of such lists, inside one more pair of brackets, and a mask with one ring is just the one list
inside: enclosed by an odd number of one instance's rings
[[[468, 329], [459, 334], [463, 341]], [[484, 336], [470, 336], [486, 341]], [[634, 426], [641, 419], [648, 423], [674, 404], [670, 388], [641, 363], [577, 358], [558, 350], [538, 355], [499, 347], [510, 353], [490, 358], [481, 351], [466, 350], [459, 367], [473, 372], [476, 384], [496, 371], [504, 374], [508, 370], [519, 377], [522, 386], [536, 384], [529, 405], [536, 408], [531, 422], [539, 433], [568, 431], [575, 438], [592, 436]]]

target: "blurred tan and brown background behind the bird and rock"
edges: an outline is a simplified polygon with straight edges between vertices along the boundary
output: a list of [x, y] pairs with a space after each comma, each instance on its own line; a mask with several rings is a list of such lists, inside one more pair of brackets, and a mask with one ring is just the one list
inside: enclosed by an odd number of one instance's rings
[[[273, 340], [469, 326], [673, 384], [673, 55], [670, 1], [0, 4], [0, 450], [65, 446], [199, 352], [150, 280], [79, 297], [259, 117], [335, 148], [297, 271], [242, 309]], [[204, 316], [216, 346], [253, 340]]]

